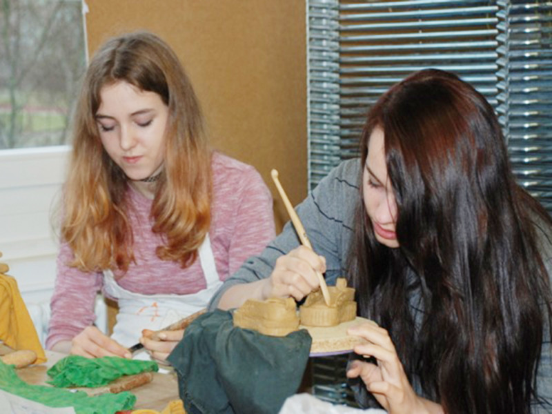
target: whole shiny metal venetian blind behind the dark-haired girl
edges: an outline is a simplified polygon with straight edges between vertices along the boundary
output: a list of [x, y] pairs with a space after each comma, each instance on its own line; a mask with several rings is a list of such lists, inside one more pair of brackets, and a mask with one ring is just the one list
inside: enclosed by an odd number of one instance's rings
[[[307, 0], [306, 8], [309, 190], [357, 155], [366, 112], [383, 92], [440, 68], [489, 100], [517, 179], [552, 213], [552, 1]], [[354, 405], [342, 374], [335, 359], [315, 361], [313, 393]]]

